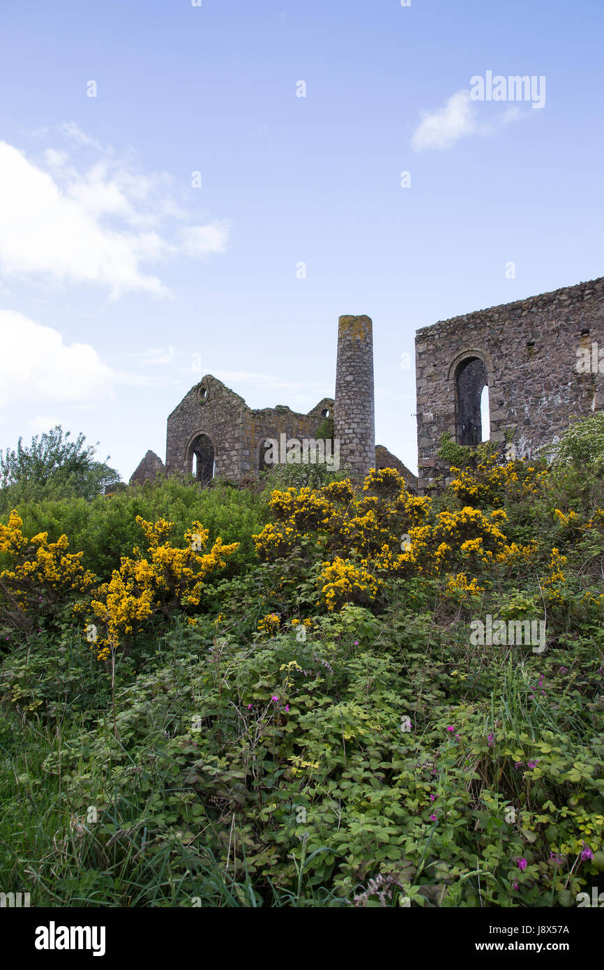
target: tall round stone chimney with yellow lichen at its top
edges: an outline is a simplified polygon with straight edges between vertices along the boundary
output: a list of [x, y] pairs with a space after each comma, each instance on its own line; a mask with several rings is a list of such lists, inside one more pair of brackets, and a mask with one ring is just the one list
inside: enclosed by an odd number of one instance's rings
[[334, 438], [340, 465], [365, 477], [375, 468], [373, 325], [368, 316], [340, 316], [337, 328]]

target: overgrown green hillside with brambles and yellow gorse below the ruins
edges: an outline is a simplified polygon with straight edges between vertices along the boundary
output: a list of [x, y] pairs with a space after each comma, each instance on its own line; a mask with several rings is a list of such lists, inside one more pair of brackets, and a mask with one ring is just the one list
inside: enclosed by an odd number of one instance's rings
[[183, 907], [602, 889], [601, 471], [453, 474], [431, 501], [386, 469], [3, 516], [0, 887]]

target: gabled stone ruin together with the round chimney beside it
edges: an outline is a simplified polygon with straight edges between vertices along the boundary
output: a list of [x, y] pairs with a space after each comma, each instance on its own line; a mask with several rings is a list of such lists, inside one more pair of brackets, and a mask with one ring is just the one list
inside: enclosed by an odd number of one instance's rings
[[[332, 434], [333, 422], [333, 434]], [[324, 398], [307, 414], [286, 404], [252, 409], [235, 391], [206, 374], [168, 418], [166, 464], [147, 451], [130, 482], [158, 472], [193, 475], [207, 484], [220, 476], [236, 482], [257, 478], [267, 467], [270, 441], [332, 438], [339, 442], [340, 468], [364, 477], [369, 469], [396, 468], [415, 491], [416, 476], [383, 445], [375, 446], [373, 335], [368, 316], [340, 316], [335, 398]], [[331, 454], [331, 448], [326, 449]]]

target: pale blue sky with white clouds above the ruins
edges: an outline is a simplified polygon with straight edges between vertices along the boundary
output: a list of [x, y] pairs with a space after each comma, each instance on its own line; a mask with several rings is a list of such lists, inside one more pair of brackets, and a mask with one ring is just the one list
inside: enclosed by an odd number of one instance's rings
[[[60, 423], [127, 478], [206, 372], [333, 395], [367, 313], [376, 440], [417, 469], [416, 329], [604, 272], [603, 27], [600, 0], [3, 0], [0, 445]], [[545, 105], [472, 101], [487, 71]]]

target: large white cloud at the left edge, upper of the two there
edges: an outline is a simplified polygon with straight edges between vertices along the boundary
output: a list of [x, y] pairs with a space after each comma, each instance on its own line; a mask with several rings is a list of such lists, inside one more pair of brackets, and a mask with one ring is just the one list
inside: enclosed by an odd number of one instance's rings
[[36, 164], [0, 142], [4, 275], [93, 283], [109, 288], [113, 297], [128, 290], [165, 296], [168, 288], [143, 264], [226, 250], [227, 222], [166, 227], [166, 220], [189, 217], [167, 175], [143, 174], [76, 125], [62, 126], [61, 132], [76, 142], [77, 152], [95, 154], [83, 171], [62, 148], [48, 147], [44, 162]]

